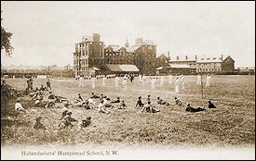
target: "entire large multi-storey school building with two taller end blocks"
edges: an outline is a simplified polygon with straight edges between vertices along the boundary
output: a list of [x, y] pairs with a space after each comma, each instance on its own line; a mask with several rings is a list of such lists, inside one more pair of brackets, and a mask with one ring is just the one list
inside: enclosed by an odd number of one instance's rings
[[152, 41], [136, 39], [135, 45], [125, 47], [109, 45], [104, 48], [101, 36], [94, 33], [93, 37], [84, 37], [81, 43], [75, 44], [74, 72], [75, 75], [90, 75], [93, 68], [101, 71], [107, 64], [135, 65], [142, 74], [155, 74], [156, 45]]

